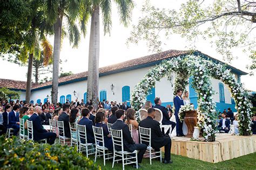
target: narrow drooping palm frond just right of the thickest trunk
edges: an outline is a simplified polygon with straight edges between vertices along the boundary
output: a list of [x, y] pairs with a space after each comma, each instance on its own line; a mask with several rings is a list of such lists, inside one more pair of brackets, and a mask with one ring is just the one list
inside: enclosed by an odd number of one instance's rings
[[100, 9], [102, 10], [103, 25], [104, 25], [104, 35], [106, 33], [110, 34], [111, 27], [112, 27], [111, 0], [103, 0], [100, 3]]

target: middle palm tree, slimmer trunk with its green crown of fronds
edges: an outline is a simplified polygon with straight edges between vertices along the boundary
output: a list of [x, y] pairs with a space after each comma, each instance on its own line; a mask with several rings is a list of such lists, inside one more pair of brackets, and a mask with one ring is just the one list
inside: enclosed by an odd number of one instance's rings
[[54, 32], [52, 103], [57, 103], [58, 101], [59, 56], [63, 35], [63, 17], [66, 18], [68, 23], [70, 43], [73, 44], [73, 47], [77, 47], [80, 41], [80, 33], [76, 19], [84, 3], [85, 1], [82, 0], [48, 0], [46, 2], [48, 24], [53, 25]]

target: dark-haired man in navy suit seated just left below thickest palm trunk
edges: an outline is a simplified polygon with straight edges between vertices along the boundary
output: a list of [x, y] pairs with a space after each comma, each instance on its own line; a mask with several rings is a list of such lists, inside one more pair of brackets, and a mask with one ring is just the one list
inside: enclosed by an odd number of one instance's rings
[[[90, 117], [90, 111], [87, 108], [83, 108], [81, 110], [81, 114], [83, 116], [82, 119], [78, 122], [79, 125], [85, 125], [86, 128], [86, 137], [87, 137], [87, 143], [94, 144], [95, 143], [95, 138], [92, 130], [93, 123], [89, 119]], [[85, 143], [85, 141], [82, 140], [82, 143]]]

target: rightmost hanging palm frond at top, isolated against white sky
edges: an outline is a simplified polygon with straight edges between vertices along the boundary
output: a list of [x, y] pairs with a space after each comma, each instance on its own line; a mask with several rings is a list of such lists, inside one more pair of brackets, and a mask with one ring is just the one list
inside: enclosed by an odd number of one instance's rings
[[118, 13], [120, 15], [120, 23], [128, 26], [131, 21], [134, 3], [132, 0], [114, 0], [117, 4]]

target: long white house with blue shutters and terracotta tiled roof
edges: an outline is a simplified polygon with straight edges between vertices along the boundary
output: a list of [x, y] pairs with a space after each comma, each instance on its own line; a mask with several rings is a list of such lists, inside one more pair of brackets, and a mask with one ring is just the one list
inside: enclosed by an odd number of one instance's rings
[[[143, 78], [150, 68], [156, 66], [162, 60], [169, 60], [173, 57], [186, 55], [188, 53], [191, 52], [169, 50], [100, 68], [99, 100], [102, 101], [105, 99], [109, 101], [117, 101], [118, 103], [130, 101], [131, 92], [134, 86]], [[199, 51], [194, 52], [194, 54], [199, 54], [214, 62], [223, 63]], [[238, 81], [240, 81], [241, 75], [247, 74], [230, 65], [226, 65], [226, 67], [231, 69]], [[175, 77], [174, 73], [173, 77]], [[174, 78], [171, 81], [164, 78], [160, 82], [157, 82], [156, 88], [151, 90], [152, 93], [147, 96], [147, 99], [153, 102], [154, 98], [158, 96], [161, 98], [163, 105], [172, 104], [173, 82]], [[113, 90], [111, 90], [112, 84], [114, 86]], [[51, 81], [42, 84], [33, 83], [30, 102], [44, 103], [47, 100], [47, 96], [51, 96], [51, 85]], [[223, 111], [225, 108], [231, 108], [234, 111], [235, 103], [232, 100], [230, 91], [225, 84], [219, 80], [212, 79], [212, 86], [215, 90], [214, 101], [217, 103], [217, 109]], [[0, 88], [1, 87], [8, 87], [12, 90], [21, 91], [21, 100], [25, 100], [26, 82], [0, 79]], [[62, 77], [59, 79], [58, 102], [64, 103], [67, 99], [69, 99], [69, 101], [75, 101], [77, 97], [78, 100], [84, 98], [86, 101], [86, 89], [87, 72]], [[189, 86], [187, 87], [187, 90], [190, 91], [191, 102], [197, 106], [197, 95], [194, 89]], [[76, 91], [76, 96], [73, 94], [73, 91]]]

